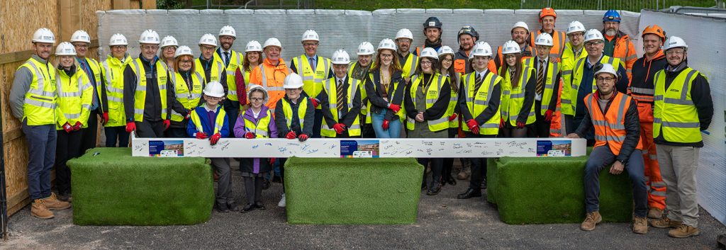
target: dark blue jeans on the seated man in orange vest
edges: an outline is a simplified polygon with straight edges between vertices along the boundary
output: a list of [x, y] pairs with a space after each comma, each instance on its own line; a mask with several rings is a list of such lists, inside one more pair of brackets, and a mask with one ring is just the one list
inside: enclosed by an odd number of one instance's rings
[[[645, 170], [643, 165], [643, 151], [635, 149], [624, 172], [630, 177], [633, 186], [633, 201], [635, 201], [635, 215], [645, 217], [648, 213], [648, 193], [645, 187]], [[608, 146], [598, 146], [592, 149], [590, 157], [585, 164], [585, 209], [587, 212], [595, 212], [600, 209], [600, 171], [610, 167], [616, 160], [616, 155]], [[606, 173], [605, 175], [610, 175]]]

